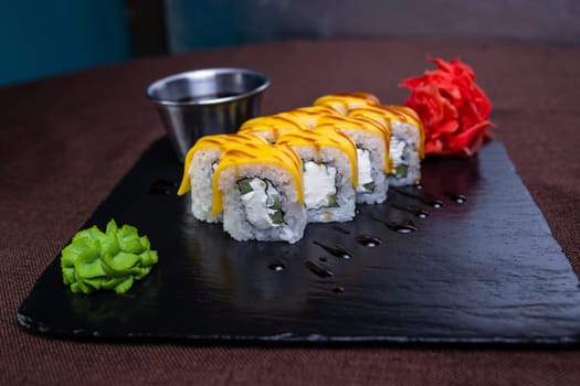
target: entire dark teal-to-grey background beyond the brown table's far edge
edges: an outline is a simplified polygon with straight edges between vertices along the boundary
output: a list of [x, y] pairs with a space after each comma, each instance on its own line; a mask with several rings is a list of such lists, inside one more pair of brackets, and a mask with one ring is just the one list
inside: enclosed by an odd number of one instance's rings
[[466, 37], [577, 46], [580, 1], [2, 1], [0, 86], [147, 55], [344, 36]]

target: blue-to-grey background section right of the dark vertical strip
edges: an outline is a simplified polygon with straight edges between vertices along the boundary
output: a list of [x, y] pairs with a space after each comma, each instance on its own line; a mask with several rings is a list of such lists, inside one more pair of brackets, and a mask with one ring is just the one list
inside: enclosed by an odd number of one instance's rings
[[170, 0], [166, 9], [173, 52], [288, 37], [580, 42], [578, 0]]

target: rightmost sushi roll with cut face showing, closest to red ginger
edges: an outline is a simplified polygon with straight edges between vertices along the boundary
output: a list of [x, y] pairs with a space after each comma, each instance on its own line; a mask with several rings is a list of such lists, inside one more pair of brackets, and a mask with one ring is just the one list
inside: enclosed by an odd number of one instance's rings
[[349, 116], [371, 118], [389, 127], [390, 185], [419, 183], [424, 158], [424, 129], [414, 110], [403, 106], [363, 106], [351, 110]]

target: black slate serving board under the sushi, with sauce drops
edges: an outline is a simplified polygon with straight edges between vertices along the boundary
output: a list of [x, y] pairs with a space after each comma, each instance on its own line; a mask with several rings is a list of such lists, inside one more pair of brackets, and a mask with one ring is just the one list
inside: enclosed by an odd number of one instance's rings
[[159, 253], [149, 276], [123, 296], [73, 294], [56, 257], [20, 325], [198, 343], [578, 343], [578, 278], [497, 141], [425, 160], [422, 189], [391, 190], [349, 223], [309, 224], [295, 245], [239, 243], [196, 221], [175, 194], [180, 178], [159, 140], [86, 222], [147, 234]]

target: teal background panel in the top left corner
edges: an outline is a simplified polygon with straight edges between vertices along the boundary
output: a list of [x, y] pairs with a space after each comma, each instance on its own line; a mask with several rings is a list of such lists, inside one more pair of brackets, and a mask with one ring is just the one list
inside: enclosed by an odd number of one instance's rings
[[0, 2], [0, 86], [125, 61], [122, 0]]

